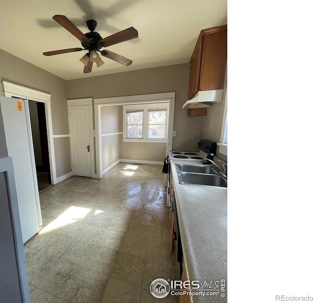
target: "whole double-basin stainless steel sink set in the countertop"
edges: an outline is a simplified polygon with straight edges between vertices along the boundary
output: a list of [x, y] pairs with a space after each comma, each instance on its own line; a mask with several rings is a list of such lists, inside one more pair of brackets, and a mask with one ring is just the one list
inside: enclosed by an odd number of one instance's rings
[[212, 166], [175, 164], [180, 184], [227, 188], [227, 179]]

